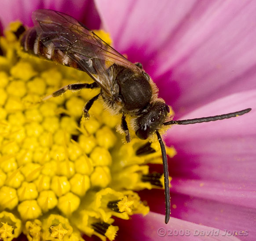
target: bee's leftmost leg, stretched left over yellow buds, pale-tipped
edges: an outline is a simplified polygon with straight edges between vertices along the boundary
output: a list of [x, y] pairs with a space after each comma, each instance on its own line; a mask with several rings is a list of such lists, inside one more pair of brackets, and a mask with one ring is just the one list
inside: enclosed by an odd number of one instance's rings
[[64, 94], [67, 90], [77, 91], [77, 90], [80, 90], [80, 89], [94, 89], [94, 88], [99, 88], [99, 85], [96, 82], [93, 82], [91, 84], [88, 84], [88, 83], [70, 84], [70, 85], [66, 85], [66, 86], [62, 87], [61, 89], [56, 90], [55, 92], [53, 92], [49, 96], [45, 96], [42, 100], [44, 101], [44, 100], [47, 100], [51, 97], [60, 96], [60, 95]]

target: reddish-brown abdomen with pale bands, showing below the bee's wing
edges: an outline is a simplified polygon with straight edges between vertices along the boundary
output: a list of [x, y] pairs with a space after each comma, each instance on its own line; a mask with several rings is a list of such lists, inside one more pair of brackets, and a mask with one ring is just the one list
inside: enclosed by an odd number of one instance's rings
[[56, 50], [54, 44], [44, 46], [39, 39], [35, 28], [28, 29], [20, 39], [23, 50], [27, 53], [37, 55], [38, 57], [52, 60], [75, 69], [82, 70], [77, 62], [70, 59], [62, 50]]

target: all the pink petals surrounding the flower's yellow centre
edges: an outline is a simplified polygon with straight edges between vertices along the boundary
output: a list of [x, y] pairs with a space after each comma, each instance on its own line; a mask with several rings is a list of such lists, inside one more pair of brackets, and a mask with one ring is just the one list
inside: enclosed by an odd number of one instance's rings
[[[117, 240], [254, 240], [255, 2], [96, 0], [96, 8], [91, 1], [1, 4], [3, 27], [16, 19], [31, 25], [31, 12], [37, 8], [66, 12], [90, 28], [101, 25], [119, 52], [143, 64], [175, 119], [252, 108], [230, 120], [172, 127], [165, 138], [177, 151], [169, 160], [168, 225], [163, 221], [163, 193], [157, 189], [139, 192], [150, 206], [147, 216], [115, 223], [121, 230]], [[157, 170], [155, 165], [151, 169]], [[212, 230], [218, 235], [204, 233]]]

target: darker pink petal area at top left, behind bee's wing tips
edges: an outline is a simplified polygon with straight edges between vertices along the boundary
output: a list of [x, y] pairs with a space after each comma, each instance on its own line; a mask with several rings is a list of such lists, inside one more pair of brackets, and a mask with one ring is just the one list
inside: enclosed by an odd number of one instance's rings
[[89, 28], [99, 28], [99, 14], [92, 0], [1, 0], [0, 22], [6, 27], [11, 21], [21, 20], [27, 26], [33, 26], [31, 13], [40, 8], [53, 9], [73, 16]]

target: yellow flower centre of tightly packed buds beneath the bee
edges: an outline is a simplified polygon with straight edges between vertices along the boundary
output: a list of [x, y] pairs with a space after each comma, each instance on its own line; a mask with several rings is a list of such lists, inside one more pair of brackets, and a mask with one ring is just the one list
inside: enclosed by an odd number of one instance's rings
[[[81, 241], [81, 233], [114, 240], [118, 219], [149, 212], [135, 191], [162, 188], [162, 174], [147, 165], [161, 163], [159, 145], [135, 137], [124, 144], [116, 131], [120, 117], [101, 99], [85, 120], [84, 104], [100, 89], [43, 101], [65, 85], [92, 80], [22, 53], [14, 34], [20, 26], [12, 24], [0, 41], [0, 239], [23, 232], [29, 241]], [[102, 30], [96, 34], [111, 43]]]

